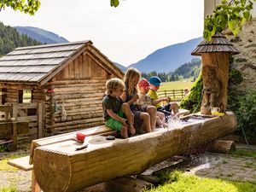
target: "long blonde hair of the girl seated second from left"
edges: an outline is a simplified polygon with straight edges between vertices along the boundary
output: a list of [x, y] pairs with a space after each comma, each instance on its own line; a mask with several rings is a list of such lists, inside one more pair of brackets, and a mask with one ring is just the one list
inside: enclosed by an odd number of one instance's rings
[[129, 68], [125, 73], [125, 89], [127, 90], [128, 94], [131, 96], [134, 92], [138, 92], [137, 86], [134, 87], [134, 79], [141, 78], [141, 73], [136, 68]]

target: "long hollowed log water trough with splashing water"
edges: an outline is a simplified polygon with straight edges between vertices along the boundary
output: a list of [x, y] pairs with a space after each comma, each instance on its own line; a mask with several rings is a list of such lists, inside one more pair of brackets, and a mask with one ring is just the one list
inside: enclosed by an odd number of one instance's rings
[[75, 148], [82, 144], [73, 140], [49, 144], [34, 150], [34, 173], [44, 192], [78, 191], [141, 173], [189, 148], [229, 135], [236, 131], [236, 125], [236, 116], [227, 112], [127, 139], [109, 141], [104, 136], [91, 136], [88, 148], [79, 151]]

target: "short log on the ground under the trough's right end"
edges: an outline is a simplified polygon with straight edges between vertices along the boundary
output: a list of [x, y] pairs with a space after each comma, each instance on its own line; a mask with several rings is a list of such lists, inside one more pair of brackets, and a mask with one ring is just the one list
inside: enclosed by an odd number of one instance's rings
[[208, 150], [213, 153], [226, 154], [236, 150], [236, 143], [234, 141], [215, 140], [209, 144]]

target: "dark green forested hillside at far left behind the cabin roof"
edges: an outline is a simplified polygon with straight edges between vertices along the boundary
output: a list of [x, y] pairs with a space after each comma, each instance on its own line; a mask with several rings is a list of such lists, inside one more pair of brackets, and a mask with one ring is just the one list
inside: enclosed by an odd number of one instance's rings
[[26, 47], [41, 44], [38, 41], [28, 38], [26, 35], [20, 35], [17, 30], [11, 26], [4, 26], [0, 22], [0, 56], [6, 55], [17, 47]]

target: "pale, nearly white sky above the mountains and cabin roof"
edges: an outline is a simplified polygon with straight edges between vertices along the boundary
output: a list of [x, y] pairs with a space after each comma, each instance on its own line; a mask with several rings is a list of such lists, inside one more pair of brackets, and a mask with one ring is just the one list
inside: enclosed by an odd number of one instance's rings
[[36, 26], [67, 38], [90, 39], [112, 61], [127, 66], [156, 49], [202, 36], [203, 0], [41, 0], [34, 16], [5, 9], [9, 26]]

